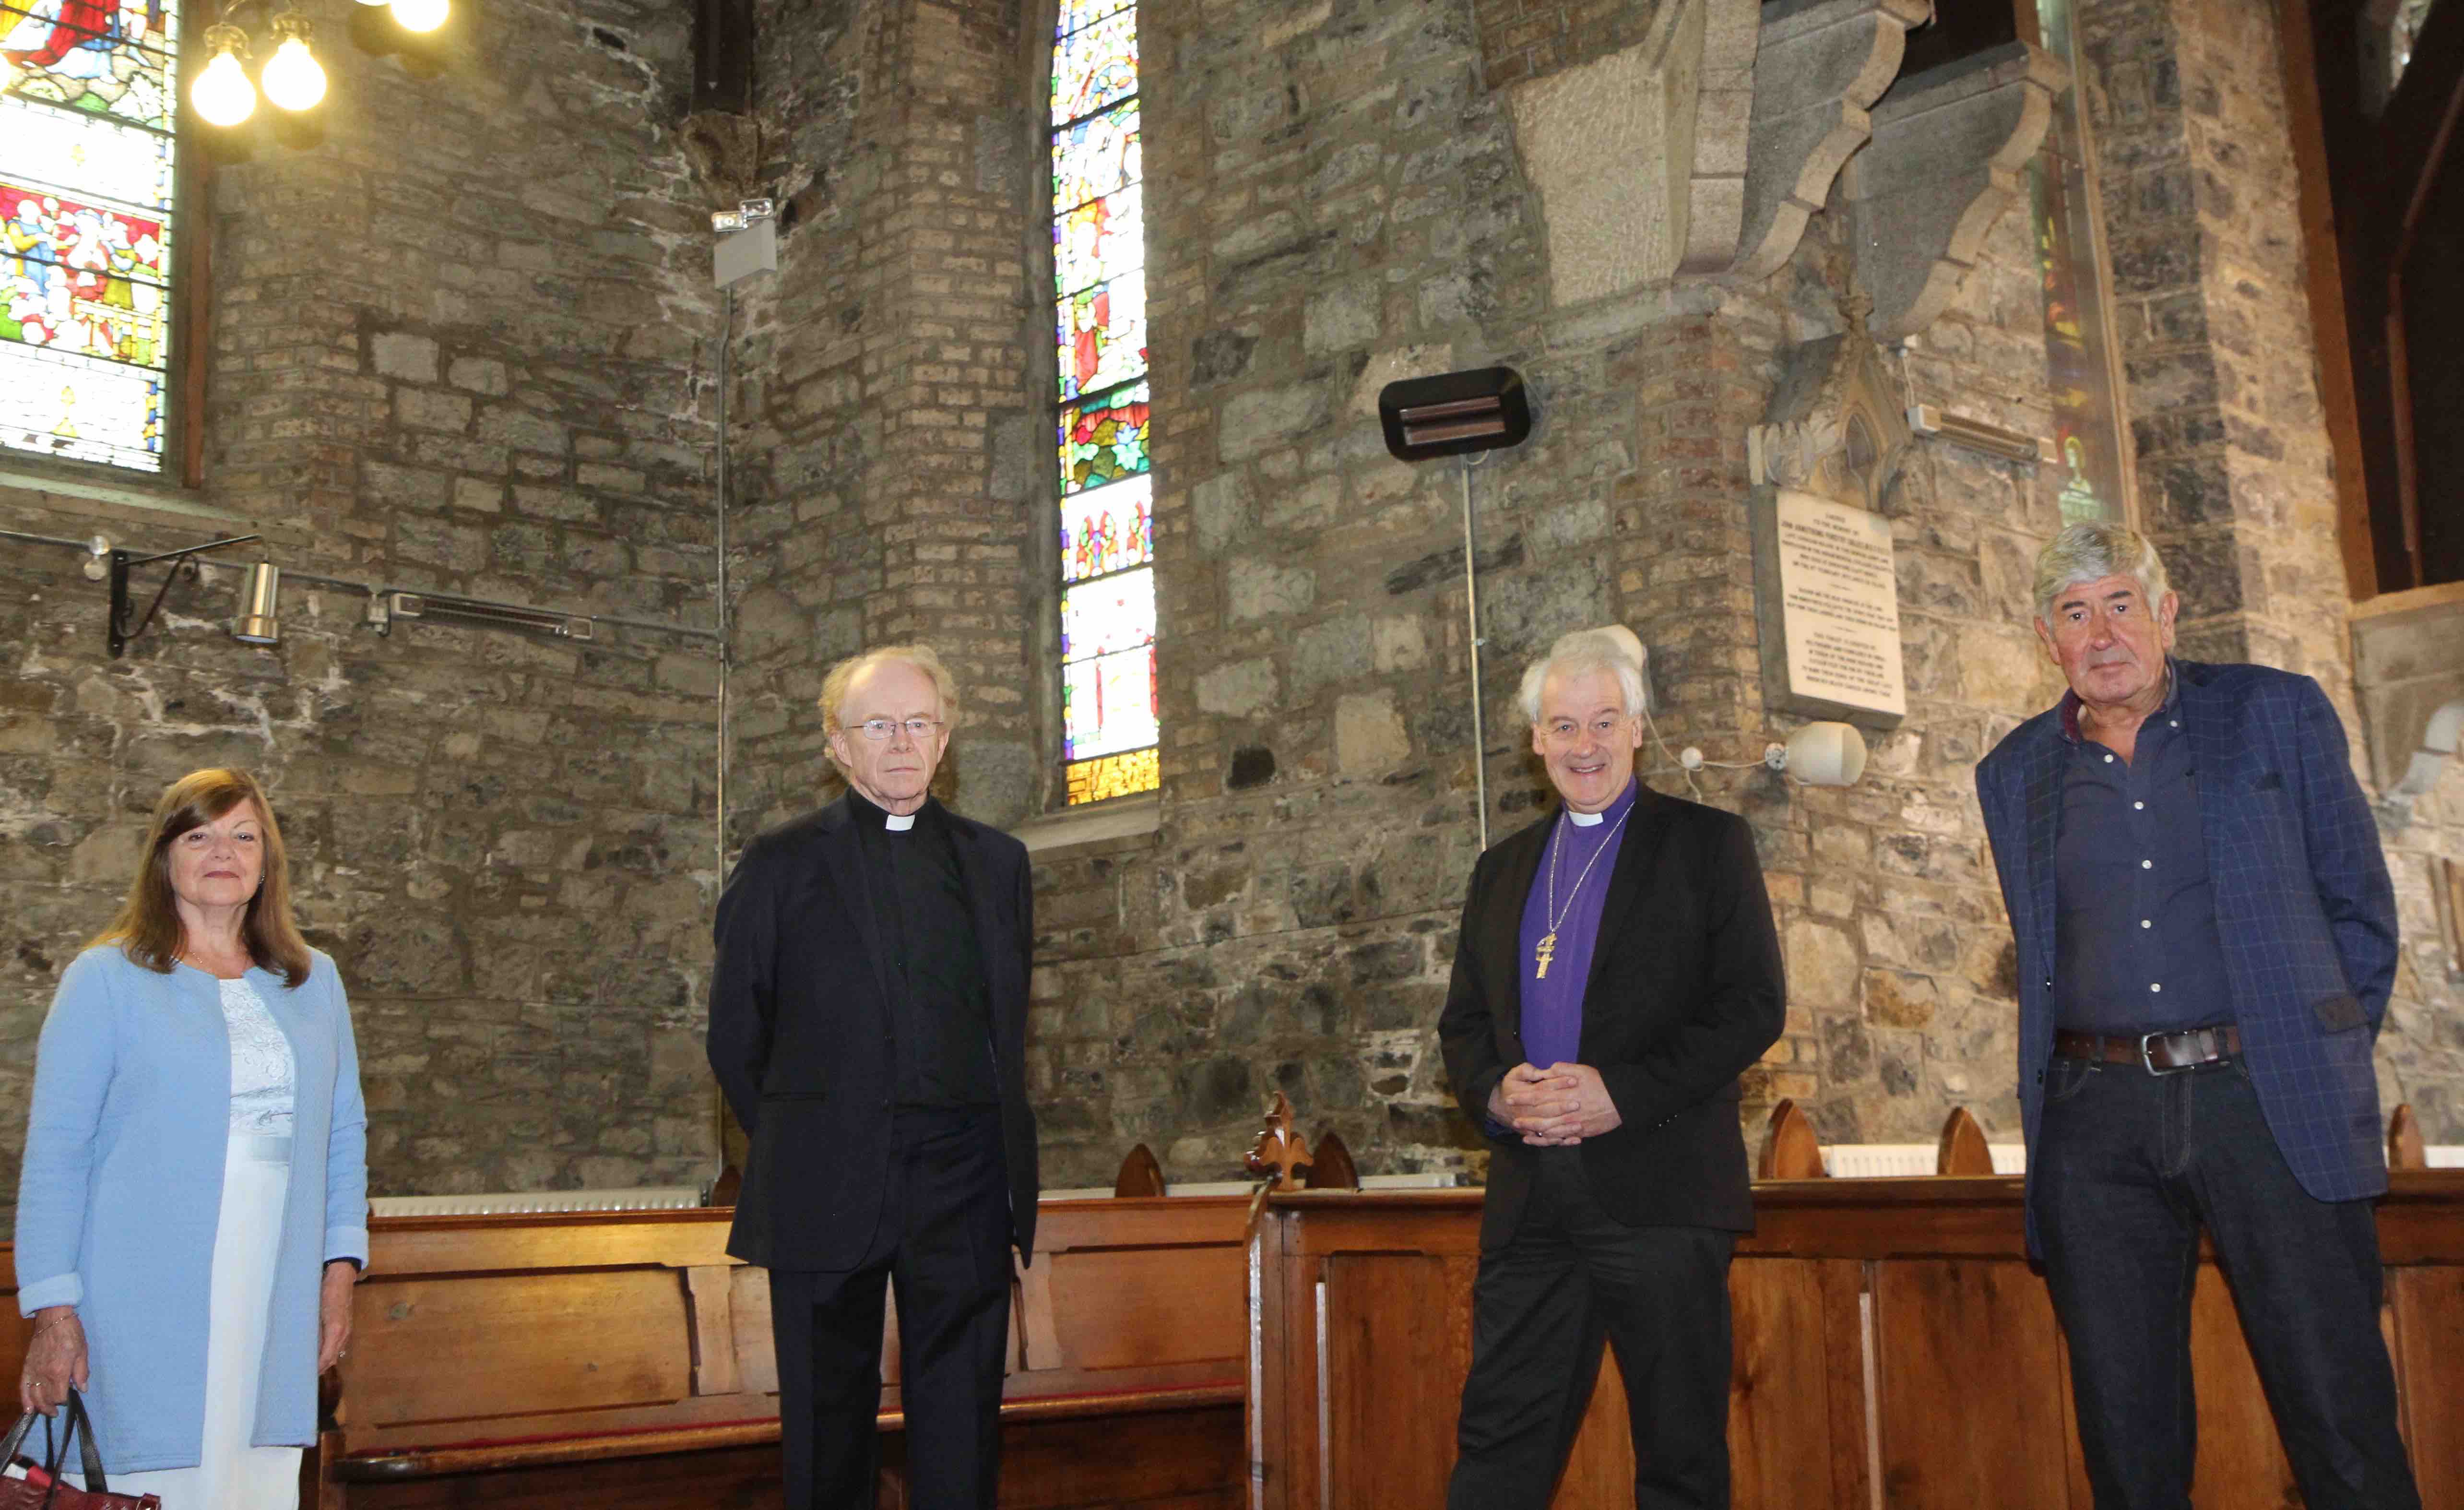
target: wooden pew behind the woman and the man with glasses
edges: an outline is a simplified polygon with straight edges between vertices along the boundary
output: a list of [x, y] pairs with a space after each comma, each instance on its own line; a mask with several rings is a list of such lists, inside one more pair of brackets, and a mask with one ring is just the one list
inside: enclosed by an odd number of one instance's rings
[[[1242, 1503], [1247, 1217], [1239, 1195], [1045, 1202], [1013, 1306], [1003, 1505]], [[769, 1276], [724, 1254], [727, 1222], [724, 1209], [372, 1222], [303, 1505], [774, 1505]], [[0, 1244], [0, 1288], [15, 1286]], [[7, 1377], [27, 1330], [15, 1306], [0, 1313]], [[894, 1318], [885, 1375], [894, 1510]]]

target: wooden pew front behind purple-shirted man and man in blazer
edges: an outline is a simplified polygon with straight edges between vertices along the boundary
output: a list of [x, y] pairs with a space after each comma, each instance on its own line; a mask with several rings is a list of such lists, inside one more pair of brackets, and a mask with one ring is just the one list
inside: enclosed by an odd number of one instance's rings
[[[2380, 1205], [2388, 1333], [2425, 1505], [2464, 1510], [2464, 1170]], [[2028, 1269], [2018, 1175], [1767, 1180], [1730, 1269], [1740, 1510], [2089, 1508], [2067, 1362]], [[1471, 1360], [1481, 1192], [1279, 1192], [1254, 1234], [1262, 1510], [1437, 1505]], [[2198, 1510], [2294, 1505], [2232, 1301], [2193, 1298]], [[1634, 1503], [1602, 1365], [1557, 1510]]]

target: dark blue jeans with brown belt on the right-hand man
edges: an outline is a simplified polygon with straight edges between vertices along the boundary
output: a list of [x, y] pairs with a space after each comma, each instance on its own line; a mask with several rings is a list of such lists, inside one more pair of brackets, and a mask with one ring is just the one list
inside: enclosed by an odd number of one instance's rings
[[2028, 1170], [2097, 1510], [2188, 1510], [2190, 1286], [2208, 1229], [2309, 1510], [2420, 1510], [2378, 1333], [2368, 1200], [2294, 1180], [2237, 1059], [2055, 1059]]

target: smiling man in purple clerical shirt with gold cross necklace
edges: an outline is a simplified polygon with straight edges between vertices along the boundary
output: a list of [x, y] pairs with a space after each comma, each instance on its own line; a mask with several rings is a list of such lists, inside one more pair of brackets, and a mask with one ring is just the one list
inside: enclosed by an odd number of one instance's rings
[[1754, 835], [1634, 778], [1631, 633], [1557, 640], [1523, 712], [1562, 808], [1473, 865], [1439, 1020], [1493, 1145], [1446, 1505], [1550, 1503], [1607, 1338], [1634, 1503], [1725, 1508], [1737, 1076], [1786, 1010]]

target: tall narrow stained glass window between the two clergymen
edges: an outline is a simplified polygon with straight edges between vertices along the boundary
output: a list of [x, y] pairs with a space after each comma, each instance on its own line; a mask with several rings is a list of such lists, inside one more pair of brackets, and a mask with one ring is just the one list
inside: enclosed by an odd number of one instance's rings
[[1133, 0], [1060, 0], [1052, 283], [1062, 761], [1077, 805], [1153, 791], [1161, 778]]

